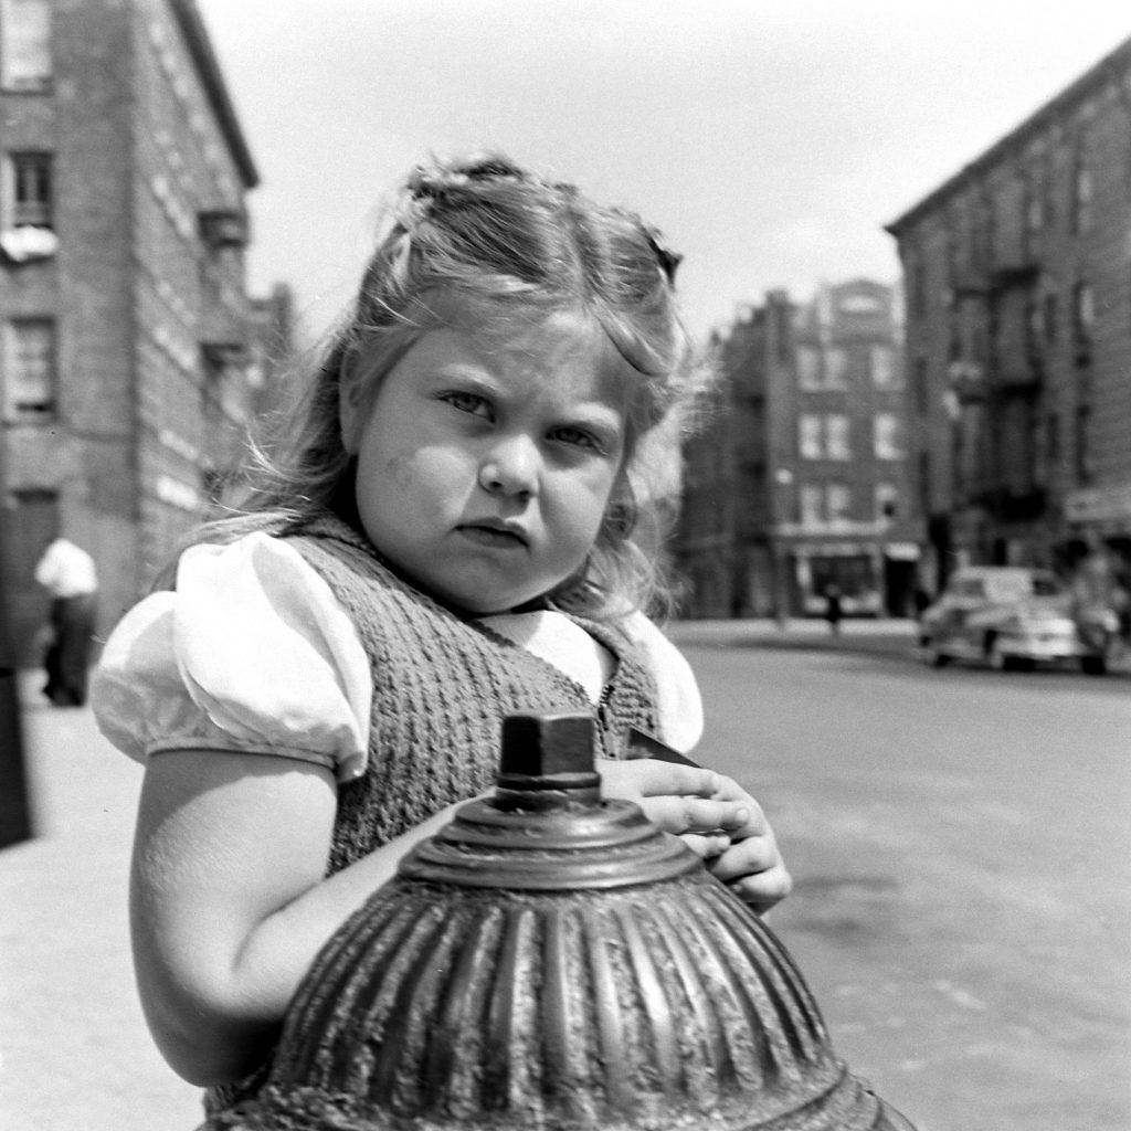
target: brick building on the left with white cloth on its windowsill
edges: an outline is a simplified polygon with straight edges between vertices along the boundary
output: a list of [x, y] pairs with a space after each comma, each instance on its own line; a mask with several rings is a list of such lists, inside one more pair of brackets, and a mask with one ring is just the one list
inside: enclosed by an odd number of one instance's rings
[[236, 458], [258, 181], [192, 0], [0, 0], [6, 588], [62, 533], [107, 627]]

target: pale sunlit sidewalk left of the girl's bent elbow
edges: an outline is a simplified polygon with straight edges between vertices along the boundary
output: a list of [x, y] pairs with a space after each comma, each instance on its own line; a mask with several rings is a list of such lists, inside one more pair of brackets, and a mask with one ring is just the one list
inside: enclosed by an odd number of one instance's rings
[[199, 1090], [158, 1055], [130, 965], [127, 871], [141, 768], [88, 708], [23, 673], [36, 836], [0, 852], [0, 1128], [191, 1131]]

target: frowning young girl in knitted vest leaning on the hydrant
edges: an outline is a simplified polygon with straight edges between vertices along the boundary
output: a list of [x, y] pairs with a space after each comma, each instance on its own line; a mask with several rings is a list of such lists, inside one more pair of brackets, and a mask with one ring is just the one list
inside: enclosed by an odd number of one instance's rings
[[335, 929], [490, 789], [507, 714], [592, 710], [606, 796], [757, 909], [788, 890], [734, 782], [627, 757], [630, 732], [701, 731], [641, 612], [702, 377], [675, 264], [504, 158], [416, 170], [290, 448], [107, 642], [98, 723], [146, 767], [138, 985], [213, 1113], [254, 1090]]

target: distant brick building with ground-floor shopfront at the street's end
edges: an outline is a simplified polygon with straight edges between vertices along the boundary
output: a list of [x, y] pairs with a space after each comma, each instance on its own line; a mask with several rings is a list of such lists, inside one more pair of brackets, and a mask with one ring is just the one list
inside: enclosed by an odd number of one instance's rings
[[684, 611], [817, 615], [836, 586], [848, 614], [908, 613], [922, 529], [892, 288], [770, 292], [715, 345], [725, 403], [687, 450]]

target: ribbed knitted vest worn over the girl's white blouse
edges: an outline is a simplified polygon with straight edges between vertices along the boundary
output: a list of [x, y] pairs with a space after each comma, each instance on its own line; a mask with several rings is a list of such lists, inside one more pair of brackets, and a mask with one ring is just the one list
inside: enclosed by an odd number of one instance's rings
[[575, 618], [618, 661], [595, 709], [559, 668], [415, 589], [338, 519], [288, 541], [353, 620], [373, 676], [369, 765], [338, 791], [331, 873], [489, 789], [508, 714], [592, 711], [607, 757], [629, 727], [657, 733], [655, 683], [622, 632]]

